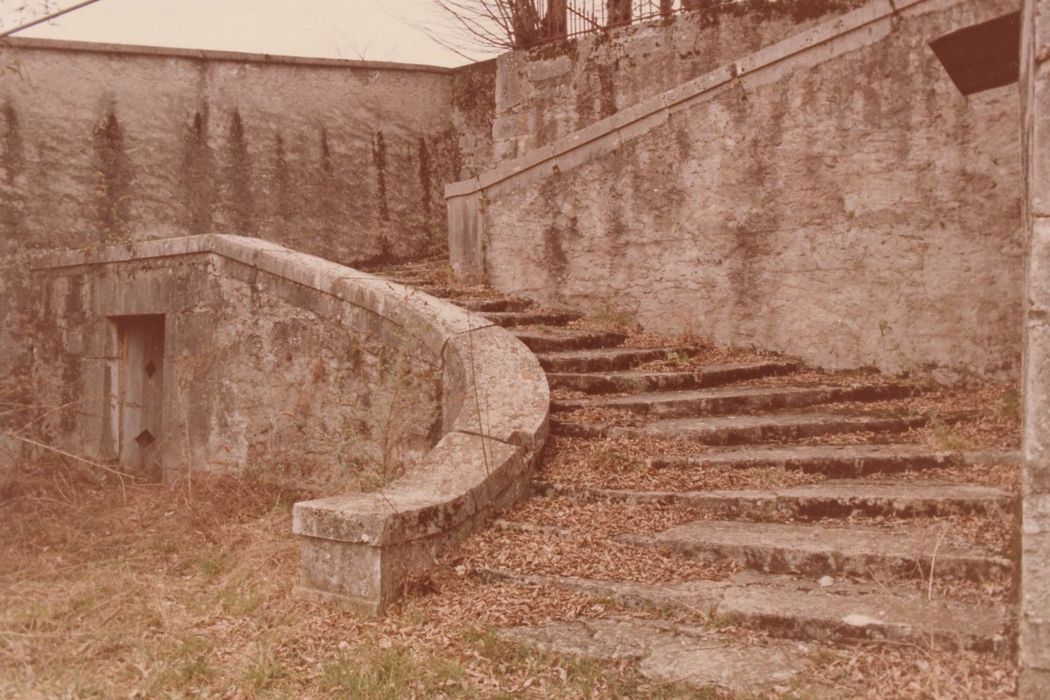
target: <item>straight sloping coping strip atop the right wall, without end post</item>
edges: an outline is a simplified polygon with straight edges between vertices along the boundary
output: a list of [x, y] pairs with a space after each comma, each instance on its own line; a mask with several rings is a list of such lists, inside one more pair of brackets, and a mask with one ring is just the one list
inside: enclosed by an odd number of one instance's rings
[[[477, 177], [445, 186], [445, 198], [465, 197], [496, 186], [526, 185], [552, 172], [564, 172], [615, 150], [668, 121], [670, 115], [718, 94], [726, 86], [766, 71], [797, 55], [811, 51], [847, 35], [856, 37], [856, 47], [881, 39], [884, 34], [863, 31], [898, 16], [902, 10], [941, 0], [873, 0], [784, 41], [772, 44], [670, 90], [644, 100], [567, 136], [498, 165]], [[887, 25], [886, 33], [891, 30]], [[852, 48], [852, 47], [850, 47]]]

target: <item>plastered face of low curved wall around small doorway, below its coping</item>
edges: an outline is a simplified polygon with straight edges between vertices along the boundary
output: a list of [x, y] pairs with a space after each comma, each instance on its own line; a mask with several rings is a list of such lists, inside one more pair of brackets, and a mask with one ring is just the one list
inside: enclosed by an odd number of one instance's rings
[[63, 407], [41, 423], [48, 444], [122, 459], [119, 319], [160, 314], [163, 428], [150, 450], [169, 480], [203, 470], [355, 490], [441, 436], [441, 358], [292, 279], [207, 251], [35, 275], [34, 396]]

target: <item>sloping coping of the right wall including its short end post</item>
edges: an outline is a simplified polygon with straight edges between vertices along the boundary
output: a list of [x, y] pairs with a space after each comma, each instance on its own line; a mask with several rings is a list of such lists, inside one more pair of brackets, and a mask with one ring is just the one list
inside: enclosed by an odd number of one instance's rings
[[499, 164], [477, 177], [445, 186], [449, 262], [458, 279], [485, 276], [483, 199], [539, 183], [616, 150], [666, 124], [672, 114], [707, 102], [737, 82], [778, 80], [796, 61], [822, 62], [872, 44], [894, 30], [894, 21], [932, 0], [873, 0], [811, 29], [627, 107], [547, 146]]

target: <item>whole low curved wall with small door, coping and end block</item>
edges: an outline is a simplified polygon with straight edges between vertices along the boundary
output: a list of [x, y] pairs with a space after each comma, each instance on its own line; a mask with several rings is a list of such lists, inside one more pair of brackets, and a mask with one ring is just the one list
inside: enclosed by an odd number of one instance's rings
[[50, 254], [34, 285], [37, 396], [67, 407], [46, 425], [54, 444], [167, 480], [374, 489], [294, 508], [301, 588], [320, 597], [384, 609], [524, 492], [546, 439], [545, 376], [506, 331], [274, 243]]

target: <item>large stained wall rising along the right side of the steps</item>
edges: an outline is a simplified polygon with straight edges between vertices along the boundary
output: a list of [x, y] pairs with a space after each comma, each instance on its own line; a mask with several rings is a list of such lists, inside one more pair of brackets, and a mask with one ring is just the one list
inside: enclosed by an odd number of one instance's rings
[[469, 224], [452, 245], [480, 238], [501, 291], [665, 333], [832, 368], [1016, 376], [1016, 89], [963, 97], [927, 42], [1017, 3], [909, 4], [869, 3], [858, 28], [836, 20], [449, 187]]

